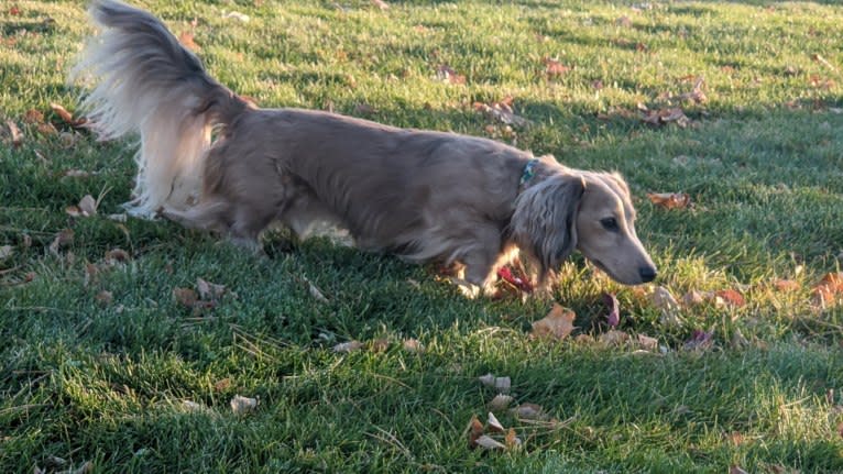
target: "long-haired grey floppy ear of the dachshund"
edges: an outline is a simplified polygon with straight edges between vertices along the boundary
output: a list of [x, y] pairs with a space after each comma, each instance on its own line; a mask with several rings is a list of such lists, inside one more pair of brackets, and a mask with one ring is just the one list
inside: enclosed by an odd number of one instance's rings
[[543, 283], [577, 246], [577, 211], [584, 190], [581, 176], [557, 175], [515, 199], [511, 234], [538, 262]]

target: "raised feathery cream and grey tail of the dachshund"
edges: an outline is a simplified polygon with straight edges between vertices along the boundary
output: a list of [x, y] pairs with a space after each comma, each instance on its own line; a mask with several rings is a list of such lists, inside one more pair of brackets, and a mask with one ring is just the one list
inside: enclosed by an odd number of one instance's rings
[[140, 135], [138, 177], [124, 206], [146, 218], [164, 208], [189, 208], [201, 191], [211, 132], [251, 103], [211, 78], [151, 13], [94, 0], [89, 14], [100, 33], [89, 40], [70, 78], [94, 84], [81, 107], [100, 139]]

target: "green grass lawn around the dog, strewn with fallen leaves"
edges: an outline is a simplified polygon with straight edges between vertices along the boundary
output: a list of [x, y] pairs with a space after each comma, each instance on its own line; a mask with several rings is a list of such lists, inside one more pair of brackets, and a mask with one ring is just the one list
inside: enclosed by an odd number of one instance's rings
[[[79, 93], [65, 77], [89, 33], [84, 5], [4, 4], [0, 471], [842, 472], [843, 309], [811, 302], [843, 258], [834, 3], [143, 2], [193, 31], [212, 75], [265, 107], [495, 136], [622, 172], [657, 284], [677, 296], [735, 288], [746, 305], [683, 308], [683, 326], [665, 326], [654, 286], [621, 287], [578, 257], [554, 299], [577, 312], [574, 334], [600, 337], [601, 293], [615, 293], [620, 329], [666, 353], [530, 340], [547, 300], [467, 300], [433, 267], [324, 239], [270, 235], [272, 258], [260, 261], [168, 222], [106, 219], [129, 197], [130, 144], [97, 143], [50, 111], [73, 110]], [[251, 20], [225, 19], [232, 10]], [[545, 57], [572, 69], [548, 78]], [[466, 82], [437, 79], [444, 64]], [[669, 99], [699, 76], [708, 101]], [[507, 130], [472, 107], [507, 95], [530, 126]], [[691, 125], [652, 128], [638, 103], [681, 106]], [[25, 123], [32, 109], [61, 133]], [[645, 197], [680, 190], [693, 209]], [[87, 194], [102, 194], [99, 216], [68, 217]], [[66, 228], [73, 243], [51, 252]], [[131, 258], [107, 265], [114, 247]], [[237, 295], [197, 313], [173, 298], [197, 277]], [[778, 278], [799, 286], [777, 290]], [[685, 350], [694, 330], [713, 331], [713, 345]], [[424, 352], [405, 351], [407, 338]], [[368, 345], [331, 351], [350, 340]], [[485, 420], [495, 395], [478, 381], [489, 372], [512, 378], [515, 403], [561, 421], [500, 410], [523, 448], [470, 449], [464, 427]], [[234, 415], [237, 394], [258, 409]]]

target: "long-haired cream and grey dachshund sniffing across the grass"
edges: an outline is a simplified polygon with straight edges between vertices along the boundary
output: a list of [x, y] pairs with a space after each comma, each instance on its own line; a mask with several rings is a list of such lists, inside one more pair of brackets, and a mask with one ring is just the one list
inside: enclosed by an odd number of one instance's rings
[[280, 221], [329, 222], [364, 250], [456, 263], [473, 291], [521, 250], [547, 282], [578, 249], [623, 284], [656, 267], [617, 174], [571, 169], [491, 140], [335, 113], [260, 109], [211, 78], [152, 14], [95, 0], [101, 29], [73, 76], [105, 137], [139, 132], [135, 216], [160, 213], [260, 249]]

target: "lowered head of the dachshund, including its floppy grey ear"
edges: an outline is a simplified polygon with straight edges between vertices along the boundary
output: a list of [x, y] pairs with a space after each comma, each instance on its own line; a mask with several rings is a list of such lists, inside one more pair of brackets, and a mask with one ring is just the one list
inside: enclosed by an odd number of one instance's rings
[[512, 234], [538, 262], [540, 280], [576, 249], [622, 284], [652, 282], [656, 266], [635, 233], [635, 209], [623, 178], [568, 172], [546, 176], [515, 201]]

